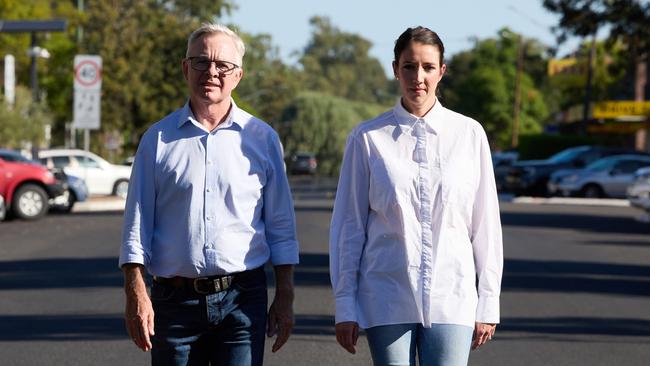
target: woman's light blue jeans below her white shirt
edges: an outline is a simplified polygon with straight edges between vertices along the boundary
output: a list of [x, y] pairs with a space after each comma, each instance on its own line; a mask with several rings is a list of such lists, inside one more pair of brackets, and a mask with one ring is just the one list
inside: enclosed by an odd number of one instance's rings
[[455, 324], [382, 325], [366, 329], [375, 366], [466, 366], [474, 329]]

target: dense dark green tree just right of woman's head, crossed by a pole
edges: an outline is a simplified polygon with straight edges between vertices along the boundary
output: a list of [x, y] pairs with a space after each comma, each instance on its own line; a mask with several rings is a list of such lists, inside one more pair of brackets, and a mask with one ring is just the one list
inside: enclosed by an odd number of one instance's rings
[[[442, 80], [443, 104], [479, 121], [493, 148], [508, 148], [511, 140], [520, 37], [502, 29], [498, 38], [477, 41], [451, 59]], [[521, 41], [521, 47], [519, 133], [536, 133], [548, 118], [544, 94], [536, 87], [545, 77], [544, 49], [534, 40]]]

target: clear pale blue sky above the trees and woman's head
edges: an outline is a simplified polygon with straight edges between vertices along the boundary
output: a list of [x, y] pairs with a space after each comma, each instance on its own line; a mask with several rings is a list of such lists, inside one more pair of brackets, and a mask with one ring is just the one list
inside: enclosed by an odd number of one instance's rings
[[[340, 30], [372, 42], [370, 54], [389, 75], [395, 39], [408, 27], [422, 25], [437, 32], [449, 59], [470, 49], [473, 37], [495, 37], [503, 27], [555, 46], [550, 28], [559, 20], [542, 7], [542, 0], [236, 0], [236, 4], [238, 9], [221, 21], [247, 33], [270, 34], [285, 63], [296, 64], [292, 54], [311, 38], [309, 18], [320, 15], [328, 16]], [[579, 40], [570, 39], [557, 56], [578, 44]]]

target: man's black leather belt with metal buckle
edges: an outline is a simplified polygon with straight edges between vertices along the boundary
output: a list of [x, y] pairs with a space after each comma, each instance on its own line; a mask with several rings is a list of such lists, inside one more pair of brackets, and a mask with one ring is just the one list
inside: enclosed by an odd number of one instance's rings
[[253, 278], [259, 271], [263, 271], [262, 267], [250, 269], [244, 272], [233, 273], [229, 275], [208, 276], [199, 278], [188, 277], [158, 277], [154, 276], [153, 280], [164, 286], [171, 286], [175, 288], [190, 288], [196, 293], [201, 295], [215, 294], [217, 292], [229, 289], [234, 283], [238, 281], [246, 281]]

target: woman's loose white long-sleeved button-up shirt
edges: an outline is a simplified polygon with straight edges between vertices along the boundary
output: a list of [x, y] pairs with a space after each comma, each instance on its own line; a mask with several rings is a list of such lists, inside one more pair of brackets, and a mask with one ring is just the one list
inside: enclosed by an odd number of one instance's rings
[[499, 322], [503, 245], [481, 125], [436, 101], [348, 137], [330, 229], [336, 322]]

